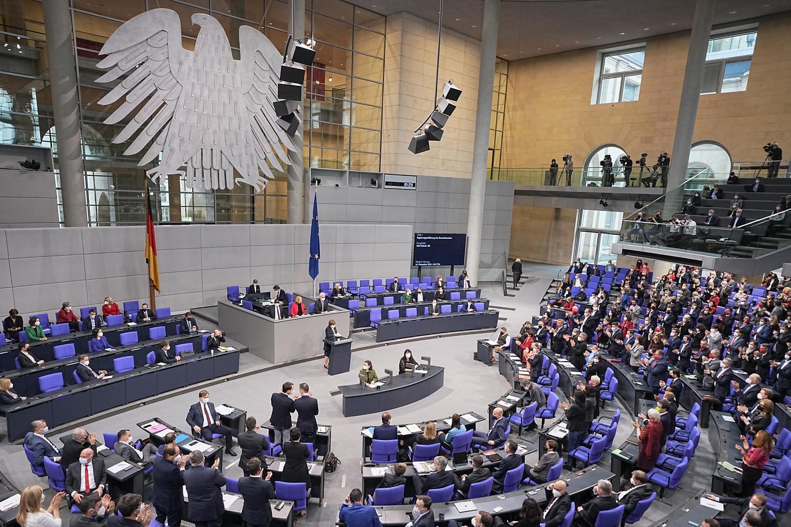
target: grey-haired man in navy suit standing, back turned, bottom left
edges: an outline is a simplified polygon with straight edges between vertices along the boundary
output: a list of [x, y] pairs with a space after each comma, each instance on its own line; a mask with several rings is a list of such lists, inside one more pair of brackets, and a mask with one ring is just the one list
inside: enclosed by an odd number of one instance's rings
[[189, 519], [195, 527], [220, 527], [225, 505], [222, 503], [222, 487], [225, 476], [217, 467], [220, 457], [211, 467], [203, 466], [203, 453], [194, 450], [190, 453], [192, 468], [184, 472], [184, 485], [187, 487]]

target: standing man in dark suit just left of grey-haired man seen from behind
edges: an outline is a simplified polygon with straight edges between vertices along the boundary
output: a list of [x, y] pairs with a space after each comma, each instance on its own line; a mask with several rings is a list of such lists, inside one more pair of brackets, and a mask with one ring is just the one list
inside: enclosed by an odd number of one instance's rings
[[[219, 457], [218, 457], [219, 459]], [[162, 450], [162, 457], [153, 461], [153, 487], [151, 504], [157, 509], [157, 521], [168, 522], [170, 527], [180, 527], [181, 509], [184, 506], [184, 467], [187, 456], [180, 454], [179, 446], [171, 443]]]

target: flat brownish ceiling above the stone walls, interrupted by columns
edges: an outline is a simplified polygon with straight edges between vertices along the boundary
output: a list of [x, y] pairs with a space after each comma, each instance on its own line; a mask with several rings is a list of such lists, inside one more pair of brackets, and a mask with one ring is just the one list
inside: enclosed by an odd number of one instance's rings
[[[347, 0], [377, 13], [437, 23], [440, 0]], [[501, 0], [498, 56], [508, 60], [685, 31], [694, 0]], [[791, 10], [791, 0], [717, 0], [714, 24]], [[483, 0], [445, 0], [444, 28], [481, 39]]]

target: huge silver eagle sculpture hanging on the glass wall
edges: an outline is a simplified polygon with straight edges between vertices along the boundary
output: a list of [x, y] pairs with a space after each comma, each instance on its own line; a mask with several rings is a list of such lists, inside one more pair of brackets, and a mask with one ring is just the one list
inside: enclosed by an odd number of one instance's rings
[[148, 146], [141, 167], [161, 154], [157, 167], [146, 171], [154, 181], [179, 174], [190, 188], [247, 183], [262, 189], [274, 179], [273, 169], [290, 164], [287, 150], [294, 150], [273, 107], [282, 56], [263, 33], [243, 25], [236, 60], [217, 19], [196, 13], [192, 23], [200, 26], [195, 51], [182, 46], [172, 9], [138, 14], [104, 44], [100, 54], [107, 56], [97, 66], [109, 71], [98, 82], [126, 75], [99, 101], [123, 100], [104, 122], [122, 122], [140, 107], [112, 142], [131, 140], [127, 156]]

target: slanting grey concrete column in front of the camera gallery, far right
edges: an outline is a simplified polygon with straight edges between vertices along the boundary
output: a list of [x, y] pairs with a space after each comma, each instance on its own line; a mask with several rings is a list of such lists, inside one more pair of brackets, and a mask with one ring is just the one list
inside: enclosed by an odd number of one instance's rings
[[[670, 155], [668, 189], [680, 185], [684, 179], [687, 179], [694, 122], [698, 116], [698, 100], [703, 83], [703, 66], [706, 64], [706, 50], [709, 47], [716, 5], [717, 0], [697, 0], [695, 3], [690, 46], [687, 51], [687, 68], [684, 70], [681, 88], [679, 118], [676, 120], [676, 137], [673, 138], [673, 150]], [[680, 190], [671, 192], [665, 197], [665, 217], [669, 218], [670, 214], [681, 209], [681, 198]]]

